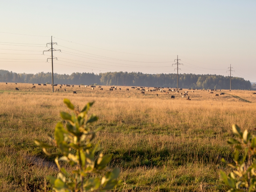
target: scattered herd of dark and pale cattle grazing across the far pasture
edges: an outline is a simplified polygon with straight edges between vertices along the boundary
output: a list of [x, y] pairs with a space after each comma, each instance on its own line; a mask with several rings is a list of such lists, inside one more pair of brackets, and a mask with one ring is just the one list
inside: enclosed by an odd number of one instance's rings
[[[8, 84], [8, 83], [5, 83], [5, 84]], [[17, 83], [15, 83], [15, 85], [17, 85]], [[38, 84], [38, 85], [40, 86], [41, 84]], [[43, 86], [47, 86], [47, 84], [43, 84]], [[58, 84], [53, 84], [53, 86], [58, 86]], [[63, 85], [60, 84], [60, 88], [62, 86]], [[64, 84], [64, 86], [66, 86], [66, 87], [74, 87], [75, 85]], [[80, 88], [80, 85], [78, 85], [77, 87]], [[85, 85], [84, 87], [85, 88], [86, 87], [91, 87], [92, 91], [95, 90], [95, 88], [96, 88], [95, 85]], [[100, 88], [99, 90], [101, 90], [101, 91], [103, 90], [103, 88], [101, 88], [101, 86], [98, 86], [98, 88]], [[34, 84], [32, 86], [32, 89], [36, 89], [36, 86]], [[138, 91], [140, 91], [141, 94], [145, 95], [145, 87], [131, 87], [131, 89], [138, 90]], [[175, 93], [179, 93], [179, 91], [182, 91], [182, 89], [177, 89], [177, 88], [169, 88], [169, 87], [167, 87], [167, 89], [168, 89], [169, 92], [175, 92]], [[188, 89], [188, 90], [191, 90], [191, 89]], [[109, 88], [109, 91], [113, 91], [113, 90], [117, 90], [117, 87], [116, 86], [112, 86], [112, 87]], [[119, 88], [119, 91], [121, 91], [121, 90], [122, 89]], [[15, 91], [19, 91], [19, 88], [15, 87]], [[129, 88], [126, 88], [126, 91], [129, 91]], [[198, 91], [198, 89], [192, 89], [191, 93], [194, 93], [195, 91]], [[203, 89], [201, 89], [201, 91], [209, 92], [209, 90], [203, 90]], [[221, 89], [220, 89], [220, 91], [221, 91]], [[231, 90], [229, 90], [229, 91], [231, 91]], [[60, 92], [60, 90], [59, 89], [55, 89], [55, 92]], [[64, 89], [64, 92], [66, 92], [66, 89]], [[149, 87], [147, 87], [146, 92], [164, 92], [165, 95], [169, 95], [169, 92], [166, 92], [166, 90], [164, 90], [164, 87], [154, 87], [153, 89], [149, 89]], [[211, 89], [210, 94], [213, 94], [213, 92], [217, 92], [217, 90], [216, 89]], [[76, 91], [73, 91], [73, 94], [77, 94]], [[253, 92], [252, 94], [256, 95], [256, 92]], [[220, 94], [215, 94], [215, 97], [219, 97], [219, 95], [225, 95], [225, 93], [221, 92]], [[180, 96], [181, 96], [181, 98], [186, 98], [186, 100], [191, 100], [189, 98], [189, 96], [188, 96], [188, 91], [184, 91], [184, 93], [181, 92]], [[158, 94], [156, 94], [156, 97], [158, 97]], [[177, 95], [176, 95], [176, 97], [177, 97]], [[171, 95], [171, 99], [175, 99], [175, 96]]]

